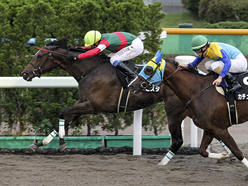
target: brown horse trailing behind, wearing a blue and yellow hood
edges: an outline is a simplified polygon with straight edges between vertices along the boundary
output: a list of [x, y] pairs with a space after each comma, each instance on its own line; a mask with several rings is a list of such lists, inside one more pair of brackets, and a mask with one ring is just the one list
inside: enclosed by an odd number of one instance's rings
[[[137, 93], [147, 80], [139, 76], [130, 86], [133, 93]], [[237, 159], [248, 167], [248, 161], [238, 148], [236, 142], [228, 132], [230, 125], [227, 101], [212, 86], [214, 75], [199, 74], [194, 68], [181, 69], [178, 63], [166, 62], [162, 82], [167, 84], [178, 96], [184, 106], [189, 109], [196, 126], [204, 130], [200, 145], [203, 157], [222, 159], [223, 154], [208, 153], [208, 145], [213, 138], [223, 141]], [[137, 94], [138, 95], [138, 94]], [[170, 103], [169, 103], [170, 104]], [[168, 105], [167, 105], [168, 106]], [[238, 123], [248, 120], [248, 101], [237, 101]], [[172, 113], [173, 114], [173, 113]], [[166, 157], [164, 159], [167, 159]], [[161, 164], [164, 164], [164, 159]]]

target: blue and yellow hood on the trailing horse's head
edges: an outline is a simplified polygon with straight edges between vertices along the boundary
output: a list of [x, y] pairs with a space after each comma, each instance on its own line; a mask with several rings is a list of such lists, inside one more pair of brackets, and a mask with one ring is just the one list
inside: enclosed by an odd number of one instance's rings
[[164, 76], [164, 67], [165, 67], [165, 60], [162, 59], [163, 51], [158, 50], [155, 57], [152, 58], [141, 70], [139, 73], [140, 76], [142, 76], [144, 79], [148, 79], [151, 74], [146, 74], [145, 69], [147, 67], [152, 67], [153, 71], [156, 70], [155, 74], [152, 76], [152, 78], [149, 80], [150, 83], [154, 85], [160, 85]]

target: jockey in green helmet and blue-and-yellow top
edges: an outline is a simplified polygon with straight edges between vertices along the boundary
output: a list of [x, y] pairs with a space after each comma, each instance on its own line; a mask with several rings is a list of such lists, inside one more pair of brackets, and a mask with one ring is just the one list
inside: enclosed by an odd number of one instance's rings
[[[205, 68], [219, 74], [213, 85], [220, 85], [222, 79], [226, 77], [230, 92], [241, 88], [236, 78], [229, 73], [241, 73], [247, 68], [247, 60], [237, 48], [225, 43], [210, 43], [202, 35], [194, 37], [191, 46], [197, 58], [190, 65], [196, 67], [205, 57], [211, 59], [205, 63]], [[179, 66], [183, 67], [183, 65]]]

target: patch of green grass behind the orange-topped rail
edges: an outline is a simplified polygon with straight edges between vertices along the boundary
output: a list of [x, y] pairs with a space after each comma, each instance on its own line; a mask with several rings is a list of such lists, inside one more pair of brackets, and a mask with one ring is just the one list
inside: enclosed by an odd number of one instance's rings
[[192, 16], [189, 12], [181, 14], [166, 14], [161, 21], [161, 28], [179, 28], [180, 23], [192, 23], [193, 28], [206, 28], [208, 24], [205, 21], [199, 21]]

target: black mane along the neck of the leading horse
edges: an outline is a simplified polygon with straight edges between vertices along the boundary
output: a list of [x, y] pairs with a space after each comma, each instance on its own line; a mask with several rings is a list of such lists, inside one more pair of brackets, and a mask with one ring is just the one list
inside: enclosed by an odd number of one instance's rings
[[[59, 40], [55, 40], [49, 44], [47, 44], [47, 46], [57, 46], [59, 48], [65, 49], [65, 50], [69, 50], [72, 52], [78, 52], [78, 53], [85, 53], [87, 51], [89, 51], [90, 49], [83, 49], [83, 48], [75, 48], [75, 47], [68, 47], [67, 46], [67, 38], [64, 37], [62, 39]], [[100, 53], [97, 56], [99, 56], [101, 59], [109, 59], [109, 57], [107, 57], [104, 53]]]

